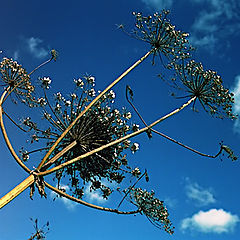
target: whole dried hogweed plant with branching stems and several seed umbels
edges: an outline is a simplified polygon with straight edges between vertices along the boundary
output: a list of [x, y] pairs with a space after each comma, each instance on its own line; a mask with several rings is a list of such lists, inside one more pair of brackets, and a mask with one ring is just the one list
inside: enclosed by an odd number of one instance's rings
[[[174, 227], [164, 202], [156, 198], [153, 191], [136, 186], [144, 178], [149, 181], [149, 177], [147, 171], [133, 167], [127, 157], [140, 146], [132, 138], [142, 133], [147, 133], [149, 138], [157, 134], [201, 156], [216, 158], [225, 152], [232, 160], [236, 160], [233, 151], [223, 143], [216, 155], [208, 155], [154, 129], [155, 125], [187, 106], [192, 104], [194, 108], [197, 101], [212, 115], [224, 115], [231, 119], [236, 117], [232, 113], [233, 94], [223, 87], [222, 79], [215, 71], [206, 71], [202, 64], [191, 59], [193, 48], [187, 40], [188, 34], [175, 30], [175, 26], [167, 19], [168, 13], [163, 11], [147, 17], [134, 13], [136, 25], [133, 31], [128, 32], [120, 26], [128, 35], [149, 44], [149, 51], [103, 91], [95, 89], [96, 79], [92, 75], [74, 79], [73, 91], [66, 96], [61, 92], [49, 96], [50, 77], [40, 77], [39, 83], [34, 85], [31, 75], [52, 60], [56, 61], [55, 50], [51, 51], [51, 57], [46, 62], [29, 74], [16, 61], [3, 58], [0, 63], [3, 86], [0, 98], [1, 131], [13, 158], [29, 176], [0, 199], [0, 208], [28, 187], [31, 198], [35, 188], [41, 196], [47, 197], [45, 188], [49, 188], [61, 197], [98, 210], [144, 214], [154, 226], [172, 234]], [[114, 106], [115, 92], [112, 88], [149, 56], [153, 56], [154, 61], [157, 55], [160, 63], [173, 72], [174, 86], [184, 93], [180, 98], [187, 100], [180, 107], [147, 124], [133, 105], [132, 89], [126, 87], [126, 98], [133, 109], [130, 112], [125, 107], [117, 109]], [[163, 57], [167, 60], [166, 64]], [[20, 122], [14, 120], [16, 117], [5, 111], [5, 102], [15, 97], [32, 110], [39, 111], [41, 119], [34, 120], [28, 116]], [[132, 122], [133, 114], [139, 117], [141, 123]], [[30, 142], [34, 146], [39, 144], [39, 148], [31, 151], [21, 148], [17, 153], [6, 132], [3, 116], [23, 133], [30, 134]], [[39, 154], [34, 155], [36, 153]], [[36, 156], [40, 158], [38, 166]], [[53, 175], [55, 186], [46, 182], [45, 176], [49, 174]], [[64, 185], [68, 186], [69, 191], [64, 189]], [[105, 199], [113, 192], [120, 192], [122, 197], [116, 208], [90, 204], [84, 200], [88, 187], [90, 191], [100, 192]], [[121, 211], [120, 207], [125, 201], [132, 204], [134, 209]]]

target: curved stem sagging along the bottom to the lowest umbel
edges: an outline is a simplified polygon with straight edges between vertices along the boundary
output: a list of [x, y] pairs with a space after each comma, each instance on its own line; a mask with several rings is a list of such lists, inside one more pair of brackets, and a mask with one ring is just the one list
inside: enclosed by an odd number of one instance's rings
[[117, 210], [117, 209], [112, 209], [112, 208], [106, 208], [106, 207], [97, 206], [97, 205], [94, 205], [94, 204], [85, 202], [85, 201], [83, 201], [83, 200], [81, 200], [81, 199], [72, 197], [72, 196], [70, 196], [69, 194], [61, 191], [60, 189], [53, 187], [52, 185], [50, 185], [50, 184], [47, 183], [47, 182], [44, 182], [44, 183], [45, 183], [46, 187], [48, 187], [48, 188], [51, 189], [52, 191], [56, 192], [56, 193], [59, 194], [60, 196], [65, 197], [65, 198], [67, 198], [67, 199], [69, 199], [69, 200], [71, 200], [71, 201], [80, 203], [80, 204], [85, 205], [85, 206], [90, 207], [90, 208], [94, 208], [94, 209], [102, 210], [102, 211], [107, 211], [107, 212], [114, 212], [114, 213], [117, 213], [117, 214], [136, 214], [136, 213], [139, 213], [139, 212], [140, 212], [139, 209], [138, 209], [138, 210], [135, 210], [135, 211], [123, 212], [123, 211], [119, 211], [119, 210]]

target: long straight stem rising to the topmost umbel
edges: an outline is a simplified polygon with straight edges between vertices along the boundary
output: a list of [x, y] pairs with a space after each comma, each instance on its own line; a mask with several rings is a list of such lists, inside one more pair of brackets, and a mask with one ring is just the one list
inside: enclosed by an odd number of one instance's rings
[[122, 78], [124, 78], [129, 72], [131, 72], [135, 67], [137, 67], [140, 63], [142, 63], [151, 53], [153, 50], [148, 51], [142, 58], [140, 58], [137, 62], [135, 62], [130, 68], [128, 68], [124, 73], [122, 73], [115, 81], [113, 81], [107, 88], [105, 88], [77, 117], [76, 119], [66, 128], [66, 130], [61, 134], [61, 136], [56, 140], [53, 144], [51, 149], [48, 153], [44, 156], [43, 160], [38, 166], [38, 170], [41, 169], [43, 164], [49, 158], [51, 153], [54, 151], [56, 146], [61, 142], [61, 140], [65, 137], [65, 135], [69, 132], [69, 130], [76, 124], [76, 122], [107, 92], [109, 91], [114, 85], [116, 85]]

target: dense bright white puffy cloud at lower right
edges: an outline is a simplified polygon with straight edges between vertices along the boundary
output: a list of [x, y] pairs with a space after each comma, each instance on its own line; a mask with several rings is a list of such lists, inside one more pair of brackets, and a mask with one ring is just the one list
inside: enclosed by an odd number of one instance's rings
[[239, 222], [239, 217], [223, 209], [210, 209], [199, 211], [191, 218], [183, 219], [181, 229], [183, 231], [197, 230], [203, 233], [228, 233], [232, 232]]

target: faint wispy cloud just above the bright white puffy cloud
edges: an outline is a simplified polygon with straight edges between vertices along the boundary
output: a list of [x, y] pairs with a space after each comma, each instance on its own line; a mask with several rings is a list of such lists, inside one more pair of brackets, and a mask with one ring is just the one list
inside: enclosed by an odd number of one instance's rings
[[211, 189], [205, 189], [198, 183], [191, 183], [189, 179], [187, 179], [186, 194], [199, 206], [207, 206], [216, 202]]

